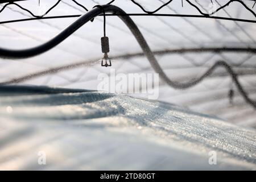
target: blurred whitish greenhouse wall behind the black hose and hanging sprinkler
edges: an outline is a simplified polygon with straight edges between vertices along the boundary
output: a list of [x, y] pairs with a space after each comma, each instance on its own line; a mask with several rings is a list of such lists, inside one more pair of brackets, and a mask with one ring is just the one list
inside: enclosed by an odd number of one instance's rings
[[[18, 5], [34, 15], [43, 15], [59, 1], [18, 1]], [[95, 5], [109, 1], [62, 0], [44, 17], [81, 15]], [[167, 0], [136, 0], [144, 10], [154, 11]], [[229, 0], [191, 0], [203, 13], [212, 13]], [[242, 1], [255, 12], [254, 1]], [[10, 20], [34, 18], [16, 5], [1, 3], [0, 42], [3, 48], [23, 49], [42, 44], [53, 38], [76, 17], [49, 18], [9, 22]], [[82, 5], [82, 6], [81, 6]], [[126, 13], [144, 13], [141, 7], [130, 0], [113, 1]], [[84, 6], [84, 7], [83, 7]], [[146, 13], [144, 13], [146, 14]], [[200, 15], [187, 1], [174, 0], [155, 14]], [[232, 2], [213, 16], [255, 20], [255, 16], [240, 2]], [[185, 16], [131, 16], [141, 30], [160, 66], [171, 80], [187, 82], [201, 76], [216, 61], [232, 65], [243, 89], [251, 100], [256, 100], [256, 56], [252, 52], [164, 52], [164, 50], [210, 47], [255, 48], [255, 22], [213, 18], [189, 18]], [[97, 89], [99, 73], [110, 73], [110, 67], [101, 67], [100, 38], [103, 17], [86, 23], [64, 42], [42, 55], [28, 59], [0, 59], [0, 82], [2, 85], [48, 85], [64, 88]], [[110, 57], [116, 73], [154, 73], [141, 47], [125, 24], [115, 16], [106, 17], [106, 35], [110, 39]], [[230, 98], [230, 90], [234, 93]], [[144, 94], [134, 97], [147, 98]], [[246, 103], [238, 92], [232, 77], [223, 68], [216, 69], [199, 84], [188, 89], [174, 89], [160, 80], [159, 100], [187, 107], [200, 113], [216, 115], [228, 122], [256, 128], [255, 108]]]

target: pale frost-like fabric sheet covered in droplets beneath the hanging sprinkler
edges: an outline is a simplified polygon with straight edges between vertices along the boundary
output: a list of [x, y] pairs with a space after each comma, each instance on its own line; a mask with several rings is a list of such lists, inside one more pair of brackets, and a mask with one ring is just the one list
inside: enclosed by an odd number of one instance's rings
[[[122, 94], [7, 91], [0, 92], [0, 169], [256, 169], [256, 131], [216, 117]], [[40, 151], [46, 165], [38, 164]]]

